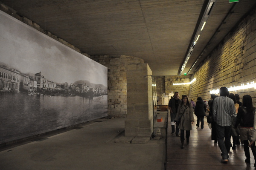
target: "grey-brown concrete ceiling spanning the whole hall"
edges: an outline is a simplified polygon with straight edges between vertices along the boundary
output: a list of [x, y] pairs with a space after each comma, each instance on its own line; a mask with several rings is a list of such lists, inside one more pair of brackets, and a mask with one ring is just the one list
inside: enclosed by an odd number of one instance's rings
[[[189, 74], [256, 6], [216, 0], [183, 73]], [[179, 75], [208, 0], [0, 0], [88, 55], [142, 58], [154, 76]]]

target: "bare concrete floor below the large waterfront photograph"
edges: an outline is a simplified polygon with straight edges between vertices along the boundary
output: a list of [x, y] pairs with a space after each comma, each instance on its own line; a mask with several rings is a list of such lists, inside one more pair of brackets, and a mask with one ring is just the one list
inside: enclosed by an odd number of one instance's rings
[[115, 143], [125, 118], [97, 119], [0, 148], [0, 170], [163, 170], [165, 138]]

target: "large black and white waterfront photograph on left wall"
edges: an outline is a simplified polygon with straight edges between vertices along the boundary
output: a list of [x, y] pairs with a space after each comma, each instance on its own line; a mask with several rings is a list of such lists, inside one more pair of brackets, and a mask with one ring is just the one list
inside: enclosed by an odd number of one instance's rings
[[107, 116], [107, 72], [0, 11], [0, 143]]

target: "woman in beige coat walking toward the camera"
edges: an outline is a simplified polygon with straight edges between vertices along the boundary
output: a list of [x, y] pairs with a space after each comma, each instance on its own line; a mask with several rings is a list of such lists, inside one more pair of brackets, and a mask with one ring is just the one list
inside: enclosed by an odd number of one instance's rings
[[[192, 130], [192, 124], [194, 123], [193, 107], [189, 102], [187, 95], [183, 95], [181, 103], [178, 107], [177, 115], [175, 117], [175, 122], [180, 121], [178, 128], [180, 129], [180, 141], [181, 149], [184, 148], [184, 133], [186, 130], [186, 143], [189, 144], [190, 130]], [[179, 120], [180, 119], [180, 120]]]

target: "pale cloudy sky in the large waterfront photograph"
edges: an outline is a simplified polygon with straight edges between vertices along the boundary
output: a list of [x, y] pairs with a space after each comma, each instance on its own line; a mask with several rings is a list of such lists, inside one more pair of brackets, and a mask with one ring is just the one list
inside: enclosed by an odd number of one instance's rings
[[107, 67], [0, 11], [0, 62], [49, 81], [107, 86]]

